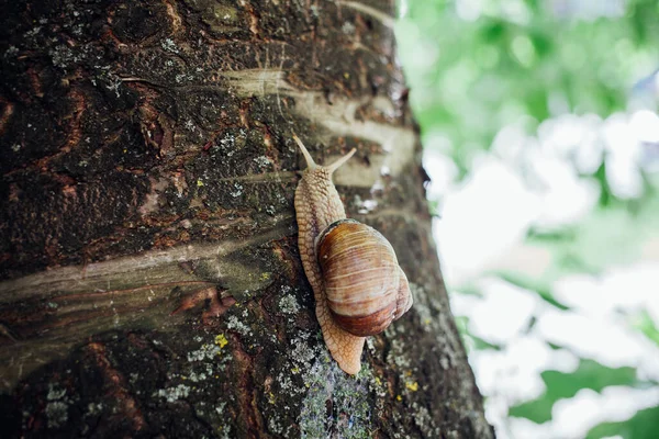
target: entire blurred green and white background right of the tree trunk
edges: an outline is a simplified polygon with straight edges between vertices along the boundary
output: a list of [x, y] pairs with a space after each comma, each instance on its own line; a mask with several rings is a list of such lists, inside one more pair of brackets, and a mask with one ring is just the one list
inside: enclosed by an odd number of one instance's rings
[[399, 11], [435, 238], [498, 437], [659, 438], [659, 2]]

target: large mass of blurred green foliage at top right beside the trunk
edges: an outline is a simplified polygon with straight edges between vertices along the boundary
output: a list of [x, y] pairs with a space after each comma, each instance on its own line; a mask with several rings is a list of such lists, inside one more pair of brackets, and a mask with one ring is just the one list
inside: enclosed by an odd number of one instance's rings
[[592, 20], [568, 20], [545, 1], [471, 3], [482, 4], [474, 21], [460, 20], [454, 1], [409, 1], [398, 26], [418, 122], [459, 144], [459, 166], [522, 115], [533, 130], [565, 112], [623, 110], [634, 82], [657, 68], [654, 0]]

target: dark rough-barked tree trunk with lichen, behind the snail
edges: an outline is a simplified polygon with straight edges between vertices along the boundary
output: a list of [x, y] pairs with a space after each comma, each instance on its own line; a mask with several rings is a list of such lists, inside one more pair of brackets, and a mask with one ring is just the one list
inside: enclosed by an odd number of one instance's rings
[[[490, 438], [431, 239], [393, 2], [0, 0], [0, 437]], [[415, 305], [347, 376], [292, 133]], [[365, 203], [368, 201], [368, 203]]]

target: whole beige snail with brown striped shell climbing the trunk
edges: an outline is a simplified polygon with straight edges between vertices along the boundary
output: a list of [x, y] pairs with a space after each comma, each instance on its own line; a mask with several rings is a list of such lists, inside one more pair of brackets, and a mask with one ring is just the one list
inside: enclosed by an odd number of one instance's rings
[[365, 337], [383, 331], [412, 306], [410, 285], [387, 238], [346, 218], [332, 175], [355, 149], [319, 166], [298, 136], [293, 139], [306, 160], [295, 190], [300, 258], [325, 345], [340, 369], [356, 374]]

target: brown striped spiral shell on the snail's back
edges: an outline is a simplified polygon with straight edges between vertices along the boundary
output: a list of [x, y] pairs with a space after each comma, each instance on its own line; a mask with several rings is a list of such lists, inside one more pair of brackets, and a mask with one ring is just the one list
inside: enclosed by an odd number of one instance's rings
[[356, 336], [383, 331], [412, 306], [407, 278], [378, 230], [339, 219], [316, 239], [325, 297], [334, 322]]

